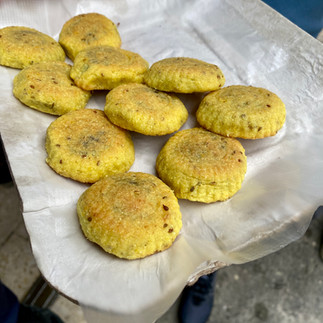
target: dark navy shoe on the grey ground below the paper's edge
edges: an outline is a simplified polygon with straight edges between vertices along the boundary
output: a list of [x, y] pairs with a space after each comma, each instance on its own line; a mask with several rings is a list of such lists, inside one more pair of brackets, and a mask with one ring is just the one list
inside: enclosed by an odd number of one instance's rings
[[198, 281], [185, 287], [179, 305], [181, 323], [207, 322], [213, 307], [216, 273], [201, 276]]

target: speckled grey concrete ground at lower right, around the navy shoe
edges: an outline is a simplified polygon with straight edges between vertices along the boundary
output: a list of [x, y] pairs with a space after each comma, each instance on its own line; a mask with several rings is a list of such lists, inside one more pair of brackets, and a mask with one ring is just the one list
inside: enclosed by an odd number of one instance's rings
[[[304, 237], [256, 261], [218, 271], [209, 323], [323, 322], [323, 214]], [[158, 323], [177, 322], [178, 302]]]

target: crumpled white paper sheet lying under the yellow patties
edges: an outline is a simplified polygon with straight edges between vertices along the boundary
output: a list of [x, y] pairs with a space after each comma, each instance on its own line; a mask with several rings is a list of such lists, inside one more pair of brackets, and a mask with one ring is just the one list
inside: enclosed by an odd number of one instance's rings
[[[183, 229], [174, 245], [142, 260], [117, 259], [87, 241], [76, 202], [88, 185], [60, 177], [45, 163], [45, 132], [56, 117], [12, 95], [18, 70], [0, 67], [1, 138], [19, 190], [39, 269], [85, 308], [89, 321], [152, 322], [187, 283], [208, 270], [248, 262], [301, 237], [323, 188], [323, 45], [256, 0], [1, 1], [1, 27], [33, 27], [58, 39], [65, 21], [100, 12], [118, 25], [122, 48], [150, 64], [194, 57], [218, 65], [226, 84], [265, 87], [284, 102], [284, 127], [271, 138], [241, 140], [248, 169], [230, 200], [180, 201]], [[103, 109], [106, 92], [88, 108]], [[179, 96], [196, 126], [200, 94]], [[132, 133], [131, 171], [155, 172], [169, 138]]]

